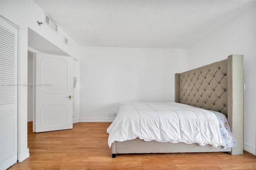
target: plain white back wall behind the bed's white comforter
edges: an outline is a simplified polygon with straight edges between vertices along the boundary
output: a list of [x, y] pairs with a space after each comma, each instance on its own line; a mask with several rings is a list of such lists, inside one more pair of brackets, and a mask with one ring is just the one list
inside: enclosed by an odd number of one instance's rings
[[186, 49], [81, 49], [80, 122], [112, 121], [120, 102], [174, 101], [174, 73], [187, 69]]

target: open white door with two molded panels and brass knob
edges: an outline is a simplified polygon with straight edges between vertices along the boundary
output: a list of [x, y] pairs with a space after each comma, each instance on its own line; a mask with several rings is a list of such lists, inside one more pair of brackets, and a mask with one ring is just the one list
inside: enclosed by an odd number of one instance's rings
[[35, 131], [73, 128], [73, 58], [36, 53]]

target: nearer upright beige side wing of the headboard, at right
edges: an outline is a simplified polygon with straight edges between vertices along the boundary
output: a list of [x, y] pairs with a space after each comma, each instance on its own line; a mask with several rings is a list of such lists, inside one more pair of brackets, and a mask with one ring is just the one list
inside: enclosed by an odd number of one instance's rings
[[[242, 100], [241, 100], [242, 99]], [[236, 138], [230, 154], [243, 154], [244, 144], [244, 56], [228, 56], [228, 123]], [[241, 102], [242, 101], [242, 102]]]

